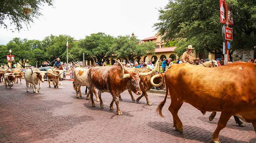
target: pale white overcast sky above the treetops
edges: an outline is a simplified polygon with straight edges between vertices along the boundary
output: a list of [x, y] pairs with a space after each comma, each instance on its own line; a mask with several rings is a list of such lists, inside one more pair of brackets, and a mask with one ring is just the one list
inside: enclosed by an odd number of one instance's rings
[[46, 36], [70, 35], [83, 39], [92, 33], [104, 32], [117, 37], [131, 35], [139, 39], [154, 36], [154, 23], [159, 22], [160, 8], [169, 0], [55, 0], [44, 6], [43, 14], [28, 29], [20, 32], [0, 27], [0, 45], [14, 37], [42, 40]]

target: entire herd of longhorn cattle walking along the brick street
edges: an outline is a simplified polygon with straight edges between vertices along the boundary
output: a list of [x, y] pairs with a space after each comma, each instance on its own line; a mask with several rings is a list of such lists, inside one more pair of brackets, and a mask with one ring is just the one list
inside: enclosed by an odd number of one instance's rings
[[[158, 61], [159, 59], [156, 63]], [[116, 62], [121, 65], [119, 61]], [[113, 110], [113, 103], [115, 102], [118, 115], [122, 115], [119, 100], [122, 100], [120, 94], [124, 90], [128, 89], [132, 100], [135, 101], [132, 95], [134, 92], [136, 95], [141, 95], [136, 99], [137, 102], [144, 96], [147, 104], [152, 105], [148, 99], [147, 91], [153, 86], [166, 89], [166, 96], [157, 106], [156, 113], [163, 117], [162, 108], [169, 95], [171, 103], [168, 110], [173, 115], [175, 130], [180, 131], [180, 133], [183, 132], [183, 125], [177, 113], [183, 102], [191, 104], [203, 114], [213, 112], [216, 115], [216, 112], [221, 112], [217, 128], [213, 133], [212, 140], [214, 143], [220, 142], [218, 135], [233, 115], [245, 122], [252, 123], [256, 130], [256, 64], [236, 62], [218, 68], [206, 67], [218, 67], [218, 65], [215, 60], [198, 66], [184, 63], [173, 64], [168, 67], [166, 73], [162, 74], [155, 72], [157, 64], [153, 70], [147, 68], [126, 69], [123, 66], [103, 66], [89, 69], [77, 67], [73, 71], [73, 88], [76, 92], [76, 98], [79, 98], [78, 92], [82, 97], [81, 86], [89, 87], [87, 99], [90, 99], [92, 106], [95, 107], [94, 93], [96, 100], [100, 101], [101, 108], [103, 108], [101, 93], [109, 92], [113, 97], [109, 108]], [[4, 78], [6, 87], [8, 84], [10, 88], [13, 88], [13, 82], [18, 83], [18, 78], [20, 78], [21, 84], [24, 73], [15, 70], [9, 71], [8, 69], [0, 71], [0, 82], [1, 77]], [[59, 78], [64, 71], [66, 70], [27, 69], [24, 75], [27, 92], [28, 84], [31, 84], [35, 94], [38, 94], [41, 89], [41, 82], [44, 82], [45, 73], [48, 74], [49, 79], [52, 79], [54, 88], [58, 88]], [[38, 84], [37, 90], [36, 85]], [[99, 90], [98, 94], [95, 89]]]

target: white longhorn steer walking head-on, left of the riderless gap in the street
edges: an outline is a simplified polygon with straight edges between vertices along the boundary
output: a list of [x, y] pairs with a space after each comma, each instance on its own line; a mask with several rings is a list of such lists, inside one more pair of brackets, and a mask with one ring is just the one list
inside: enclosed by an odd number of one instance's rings
[[[38, 68], [26, 70], [25, 80], [26, 80], [27, 92], [28, 92], [28, 83], [30, 83], [30, 84], [32, 84], [33, 92], [35, 92], [35, 94], [38, 94], [39, 90], [41, 89], [41, 82], [44, 82], [43, 76], [45, 76], [45, 73], [49, 73], [54, 76], [60, 75], [60, 74], [55, 75], [48, 71], [40, 71]], [[36, 90], [36, 85], [38, 85], [38, 84], [39, 84], [39, 88], [38, 88], [38, 90]]]

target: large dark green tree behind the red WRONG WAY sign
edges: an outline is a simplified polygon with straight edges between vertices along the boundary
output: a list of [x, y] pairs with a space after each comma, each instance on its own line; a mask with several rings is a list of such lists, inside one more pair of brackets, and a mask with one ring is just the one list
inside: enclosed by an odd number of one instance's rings
[[[228, 0], [235, 27], [231, 49], [252, 49], [256, 45], [256, 0]], [[220, 6], [216, 0], [174, 0], [159, 10], [154, 27], [164, 42], [177, 41], [175, 52], [181, 55], [188, 44], [195, 50], [222, 53]]]

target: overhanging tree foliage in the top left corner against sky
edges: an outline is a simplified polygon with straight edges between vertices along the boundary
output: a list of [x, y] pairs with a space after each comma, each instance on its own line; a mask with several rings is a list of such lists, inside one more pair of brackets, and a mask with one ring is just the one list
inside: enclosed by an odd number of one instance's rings
[[29, 25], [33, 18], [42, 15], [39, 10], [44, 3], [53, 5], [52, 0], [0, 0], [0, 25], [7, 28], [6, 20], [9, 20], [8, 25], [15, 25], [20, 31], [23, 23]]

